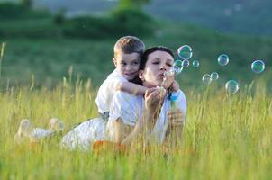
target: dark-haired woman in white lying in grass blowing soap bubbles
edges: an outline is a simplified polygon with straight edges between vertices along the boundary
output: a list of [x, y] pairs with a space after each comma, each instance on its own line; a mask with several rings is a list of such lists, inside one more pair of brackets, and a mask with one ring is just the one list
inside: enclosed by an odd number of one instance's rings
[[[109, 121], [100, 118], [86, 121], [70, 130], [61, 140], [61, 146], [69, 149], [88, 150], [96, 140], [112, 140], [130, 144], [142, 127], [148, 129], [150, 139], [162, 143], [171, 129], [181, 134], [185, 121], [186, 98], [182, 91], [177, 95], [177, 110], [171, 111], [168, 93], [174, 76], [165, 72], [173, 67], [174, 55], [165, 47], [147, 49], [141, 60], [139, 77], [142, 85], [149, 88], [145, 96], [117, 93], [113, 97]], [[159, 88], [158, 88], [159, 86]], [[174, 94], [172, 94], [174, 95]], [[175, 132], [175, 133], [176, 133]]]

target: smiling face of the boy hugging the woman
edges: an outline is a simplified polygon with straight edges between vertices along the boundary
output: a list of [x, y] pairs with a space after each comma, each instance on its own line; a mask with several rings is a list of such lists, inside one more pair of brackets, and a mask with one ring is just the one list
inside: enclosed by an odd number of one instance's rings
[[131, 54], [121, 52], [113, 58], [115, 67], [120, 71], [122, 76], [128, 80], [132, 80], [135, 76], [138, 76], [140, 60], [140, 55], [136, 52]]

